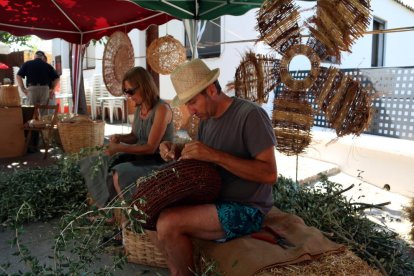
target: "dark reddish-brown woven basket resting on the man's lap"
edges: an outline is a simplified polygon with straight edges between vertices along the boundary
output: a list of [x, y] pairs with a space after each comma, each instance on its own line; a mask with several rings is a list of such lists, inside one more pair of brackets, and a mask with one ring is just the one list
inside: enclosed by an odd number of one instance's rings
[[[219, 195], [221, 179], [215, 167], [207, 162], [182, 160], [166, 165], [154, 174], [137, 180], [133, 205], [146, 217], [143, 227], [155, 229], [159, 213], [177, 204], [211, 203]], [[141, 200], [144, 203], [141, 203]]]

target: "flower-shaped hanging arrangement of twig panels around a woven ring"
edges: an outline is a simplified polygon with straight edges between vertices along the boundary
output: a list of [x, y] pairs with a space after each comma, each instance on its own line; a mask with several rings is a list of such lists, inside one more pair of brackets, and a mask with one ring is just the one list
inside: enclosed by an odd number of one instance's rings
[[[287, 155], [303, 152], [310, 143], [314, 112], [307, 101], [308, 92], [315, 97], [317, 111], [325, 113], [338, 136], [359, 135], [372, 117], [371, 95], [359, 81], [339, 69], [320, 68], [321, 60], [326, 58], [340, 62], [341, 52], [350, 52], [355, 40], [363, 35], [370, 22], [370, 1], [318, 0], [315, 15], [306, 19], [303, 26], [299, 26], [299, 18], [294, 0], [265, 0], [257, 14], [258, 40], [282, 56], [280, 61], [274, 61], [278, 72], [264, 77], [284, 85], [283, 92], [275, 95], [272, 121], [277, 148]], [[310, 35], [302, 42], [301, 31], [305, 27]], [[311, 69], [306, 76], [293, 77], [289, 65], [299, 55], [309, 59]], [[258, 79], [252, 74], [248, 76], [244, 78], [249, 83]], [[248, 94], [241, 96], [249, 98]]]

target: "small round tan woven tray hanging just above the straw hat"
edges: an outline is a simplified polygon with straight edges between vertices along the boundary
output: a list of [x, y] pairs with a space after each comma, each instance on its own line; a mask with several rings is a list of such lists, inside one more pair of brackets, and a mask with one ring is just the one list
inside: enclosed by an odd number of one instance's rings
[[184, 46], [170, 35], [154, 40], [147, 48], [147, 62], [158, 74], [170, 74], [186, 59]]

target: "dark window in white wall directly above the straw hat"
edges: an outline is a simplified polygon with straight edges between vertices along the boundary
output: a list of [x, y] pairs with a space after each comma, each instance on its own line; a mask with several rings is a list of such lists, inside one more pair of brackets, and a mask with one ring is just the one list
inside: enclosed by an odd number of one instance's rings
[[[219, 57], [221, 53], [221, 19], [216, 18], [211, 21], [204, 21], [204, 32], [201, 35], [201, 39], [198, 42], [198, 57], [199, 58], [211, 58]], [[203, 23], [199, 23], [203, 24]], [[190, 42], [188, 41], [187, 34], [185, 34], [185, 47], [187, 48], [187, 58], [192, 57]]]

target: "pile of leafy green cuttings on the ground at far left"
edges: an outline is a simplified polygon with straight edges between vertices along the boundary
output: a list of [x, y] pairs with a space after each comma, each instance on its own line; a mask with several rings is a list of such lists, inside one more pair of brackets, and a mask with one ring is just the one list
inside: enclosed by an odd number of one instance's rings
[[44, 221], [76, 209], [86, 198], [79, 172], [82, 155], [68, 155], [47, 167], [0, 172], [0, 223]]

